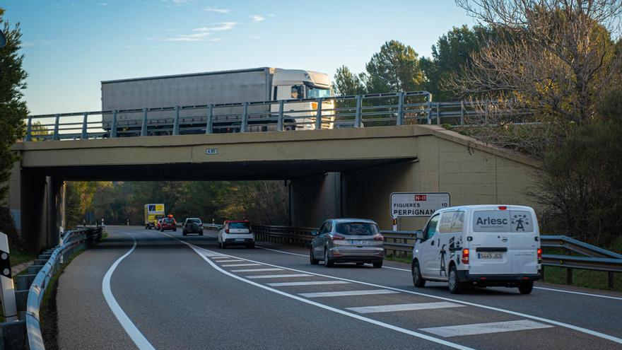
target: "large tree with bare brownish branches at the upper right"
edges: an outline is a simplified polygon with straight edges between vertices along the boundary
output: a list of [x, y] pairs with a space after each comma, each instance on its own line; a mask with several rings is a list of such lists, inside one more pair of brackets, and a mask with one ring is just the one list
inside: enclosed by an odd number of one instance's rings
[[611, 30], [622, 1], [456, 0], [500, 35], [451, 83], [457, 93], [505, 93], [556, 123], [589, 122], [621, 57]]

